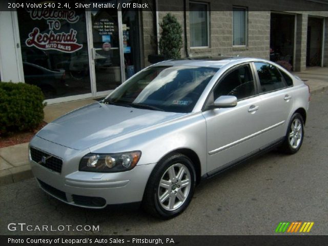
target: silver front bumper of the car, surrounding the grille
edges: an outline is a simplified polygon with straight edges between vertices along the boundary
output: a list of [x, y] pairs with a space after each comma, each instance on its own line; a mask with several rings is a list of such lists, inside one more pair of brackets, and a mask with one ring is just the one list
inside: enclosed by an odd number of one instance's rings
[[[67, 147], [42, 138], [33, 140], [30, 147], [64, 156], [61, 173], [54, 172], [30, 158], [31, 169], [40, 188], [63, 202], [79, 207], [104, 208], [109, 204], [140, 202], [155, 166], [155, 163], [138, 165], [130, 171], [118, 173], [76, 171], [80, 159], [77, 156], [82, 157], [85, 153], [77, 154], [78, 151], [72, 149], [67, 151]], [[42, 145], [39, 145], [40, 142]]]

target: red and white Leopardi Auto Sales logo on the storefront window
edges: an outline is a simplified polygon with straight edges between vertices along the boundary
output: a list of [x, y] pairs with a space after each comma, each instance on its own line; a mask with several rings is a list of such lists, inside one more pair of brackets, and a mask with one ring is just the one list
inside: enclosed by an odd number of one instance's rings
[[76, 43], [76, 33], [77, 31], [74, 29], [71, 29], [69, 33], [54, 33], [53, 31], [40, 33], [40, 30], [35, 27], [25, 43], [28, 47], [34, 46], [42, 50], [58, 50], [72, 53], [83, 47], [83, 45]]

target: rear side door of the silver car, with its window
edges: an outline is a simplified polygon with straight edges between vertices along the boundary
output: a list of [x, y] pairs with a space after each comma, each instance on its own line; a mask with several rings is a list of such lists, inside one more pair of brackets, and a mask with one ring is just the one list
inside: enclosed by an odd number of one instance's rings
[[293, 103], [293, 87], [288, 85], [274, 65], [263, 62], [253, 63], [261, 99], [260, 124], [262, 147], [270, 145], [285, 136], [286, 124]]

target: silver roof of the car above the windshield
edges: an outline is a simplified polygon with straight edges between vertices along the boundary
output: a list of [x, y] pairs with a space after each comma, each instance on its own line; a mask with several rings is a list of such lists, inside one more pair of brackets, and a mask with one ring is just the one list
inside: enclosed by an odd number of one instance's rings
[[251, 57], [189, 57], [185, 59], [161, 61], [153, 66], [195, 66], [195, 67], [211, 67], [221, 68], [230, 63], [245, 63], [249, 61], [267, 61], [259, 58]]

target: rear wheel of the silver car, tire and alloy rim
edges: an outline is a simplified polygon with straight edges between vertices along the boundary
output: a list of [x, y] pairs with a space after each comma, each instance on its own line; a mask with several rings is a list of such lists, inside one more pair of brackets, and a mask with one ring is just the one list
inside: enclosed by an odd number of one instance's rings
[[304, 137], [304, 121], [299, 113], [293, 114], [289, 122], [285, 139], [280, 147], [286, 154], [295, 154], [302, 146]]

